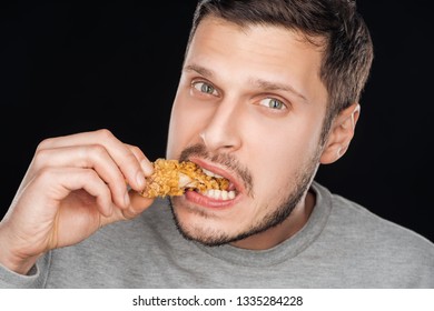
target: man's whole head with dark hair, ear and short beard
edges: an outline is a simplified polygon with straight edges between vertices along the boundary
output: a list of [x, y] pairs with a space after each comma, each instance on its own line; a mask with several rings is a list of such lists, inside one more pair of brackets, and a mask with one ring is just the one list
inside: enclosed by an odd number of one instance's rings
[[181, 232], [247, 248], [293, 234], [319, 163], [353, 138], [372, 59], [351, 1], [199, 2], [167, 157], [227, 177], [233, 191], [174, 198]]

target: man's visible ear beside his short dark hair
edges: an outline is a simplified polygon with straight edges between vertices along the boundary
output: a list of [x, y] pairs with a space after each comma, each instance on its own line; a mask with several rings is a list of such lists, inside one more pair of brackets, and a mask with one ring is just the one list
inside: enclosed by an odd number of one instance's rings
[[320, 156], [322, 164], [333, 163], [345, 154], [354, 137], [359, 114], [361, 106], [355, 102], [341, 111], [335, 118], [323, 154]]

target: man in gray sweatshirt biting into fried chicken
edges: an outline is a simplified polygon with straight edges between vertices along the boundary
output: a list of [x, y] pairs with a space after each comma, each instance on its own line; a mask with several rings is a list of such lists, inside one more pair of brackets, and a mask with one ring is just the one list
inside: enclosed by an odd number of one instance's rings
[[199, 1], [167, 158], [229, 188], [144, 198], [138, 147], [47, 139], [0, 223], [1, 285], [434, 287], [428, 240], [314, 181], [348, 149], [372, 60], [352, 1]]

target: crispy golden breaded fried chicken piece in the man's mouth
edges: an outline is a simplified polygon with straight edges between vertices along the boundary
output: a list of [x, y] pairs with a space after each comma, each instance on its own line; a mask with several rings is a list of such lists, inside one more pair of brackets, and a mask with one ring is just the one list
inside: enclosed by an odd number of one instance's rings
[[210, 189], [227, 190], [226, 178], [210, 177], [194, 162], [166, 160], [154, 162], [154, 173], [147, 179], [147, 187], [140, 192], [146, 198], [183, 195], [188, 189], [204, 192]]

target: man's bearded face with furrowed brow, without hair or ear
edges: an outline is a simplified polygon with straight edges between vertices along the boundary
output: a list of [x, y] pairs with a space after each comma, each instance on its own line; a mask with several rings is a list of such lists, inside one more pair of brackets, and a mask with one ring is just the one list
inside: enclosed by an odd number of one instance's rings
[[167, 158], [191, 160], [231, 187], [171, 198], [186, 237], [234, 242], [303, 209], [326, 112], [320, 61], [317, 47], [283, 28], [200, 23], [172, 107]]

